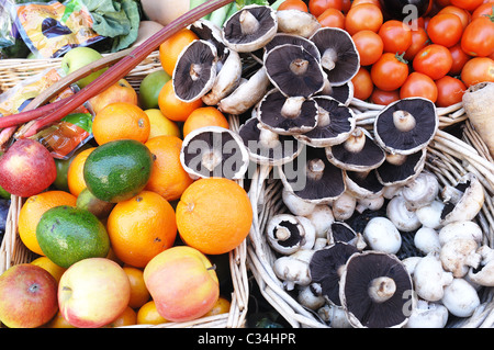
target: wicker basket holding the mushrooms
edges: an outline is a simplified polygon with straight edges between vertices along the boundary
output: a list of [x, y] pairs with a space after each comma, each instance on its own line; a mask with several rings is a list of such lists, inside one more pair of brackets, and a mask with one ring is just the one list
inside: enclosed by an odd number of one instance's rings
[[[352, 100], [350, 106], [356, 113], [357, 124], [372, 128], [377, 113], [383, 108], [375, 104]], [[467, 172], [475, 173], [485, 190], [485, 203], [475, 221], [484, 234], [483, 244], [494, 246], [494, 162], [485, 144], [469, 123], [462, 104], [438, 109], [440, 126], [427, 148], [425, 169], [434, 172], [439, 183], [456, 184]], [[446, 132], [448, 127], [462, 131], [461, 139]], [[293, 293], [283, 287], [273, 269], [279, 257], [269, 246], [265, 229], [270, 217], [288, 212], [282, 196], [281, 180], [273, 179], [270, 166], [258, 166], [251, 179], [249, 196], [255, 211], [255, 221], [247, 247], [247, 262], [266, 300], [293, 327], [323, 328], [329, 327], [318, 315], [302, 306]], [[403, 240], [404, 245], [413, 241]], [[474, 314], [467, 318], [450, 317], [447, 327], [493, 327], [494, 326], [494, 290], [484, 287], [480, 292], [481, 305]]]

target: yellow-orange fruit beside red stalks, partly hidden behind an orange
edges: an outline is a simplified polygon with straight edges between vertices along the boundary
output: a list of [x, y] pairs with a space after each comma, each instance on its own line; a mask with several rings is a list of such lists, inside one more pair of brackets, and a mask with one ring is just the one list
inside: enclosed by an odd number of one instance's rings
[[110, 103], [127, 102], [137, 105], [138, 95], [131, 83], [125, 79], [120, 79], [106, 90], [89, 99], [92, 110], [96, 114]]

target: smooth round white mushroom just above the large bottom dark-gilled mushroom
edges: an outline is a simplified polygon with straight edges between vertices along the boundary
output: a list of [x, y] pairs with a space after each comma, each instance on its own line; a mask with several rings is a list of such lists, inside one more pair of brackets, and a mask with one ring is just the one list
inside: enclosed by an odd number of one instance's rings
[[362, 235], [373, 250], [396, 253], [402, 246], [402, 235], [394, 224], [383, 216], [371, 218]]

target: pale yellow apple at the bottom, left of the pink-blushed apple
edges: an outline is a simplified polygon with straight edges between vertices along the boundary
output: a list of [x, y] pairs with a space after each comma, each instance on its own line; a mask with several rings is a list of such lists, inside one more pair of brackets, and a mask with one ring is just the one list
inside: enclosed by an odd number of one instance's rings
[[61, 275], [58, 306], [64, 318], [78, 328], [98, 328], [113, 321], [127, 307], [131, 284], [113, 260], [80, 260]]

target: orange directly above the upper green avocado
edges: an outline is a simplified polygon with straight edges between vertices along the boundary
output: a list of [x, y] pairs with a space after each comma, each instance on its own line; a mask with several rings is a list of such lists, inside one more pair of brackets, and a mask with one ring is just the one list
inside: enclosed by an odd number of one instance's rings
[[94, 115], [92, 135], [98, 145], [111, 140], [131, 138], [145, 143], [149, 137], [150, 124], [147, 114], [128, 102], [114, 102]]

